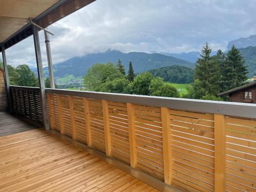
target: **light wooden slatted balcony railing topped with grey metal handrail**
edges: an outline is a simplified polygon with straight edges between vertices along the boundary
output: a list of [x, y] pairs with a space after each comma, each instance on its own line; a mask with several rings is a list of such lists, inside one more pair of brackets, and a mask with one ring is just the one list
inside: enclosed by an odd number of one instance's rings
[[[14, 109], [24, 114], [17, 92]], [[256, 190], [255, 104], [56, 89], [47, 99], [52, 130], [166, 184]]]

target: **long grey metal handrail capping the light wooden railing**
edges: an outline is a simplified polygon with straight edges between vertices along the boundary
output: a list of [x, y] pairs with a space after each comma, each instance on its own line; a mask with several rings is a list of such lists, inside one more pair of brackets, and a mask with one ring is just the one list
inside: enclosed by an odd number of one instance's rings
[[93, 99], [105, 99], [117, 102], [131, 102], [149, 106], [166, 107], [177, 110], [194, 112], [215, 113], [229, 116], [245, 117], [256, 119], [256, 104], [209, 101], [199, 99], [183, 99], [170, 97], [156, 97], [144, 95], [129, 95], [117, 93], [102, 93], [89, 91], [73, 91], [61, 89], [46, 89], [47, 93], [69, 95], [75, 97], [86, 97]]

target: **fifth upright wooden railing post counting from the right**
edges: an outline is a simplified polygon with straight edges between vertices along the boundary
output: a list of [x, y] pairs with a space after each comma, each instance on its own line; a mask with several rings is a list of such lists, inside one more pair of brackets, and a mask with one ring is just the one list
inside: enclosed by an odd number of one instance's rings
[[84, 111], [84, 118], [86, 120], [87, 145], [92, 147], [92, 133], [91, 133], [90, 109], [89, 109], [88, 98], [83, 98], [83, 111]]

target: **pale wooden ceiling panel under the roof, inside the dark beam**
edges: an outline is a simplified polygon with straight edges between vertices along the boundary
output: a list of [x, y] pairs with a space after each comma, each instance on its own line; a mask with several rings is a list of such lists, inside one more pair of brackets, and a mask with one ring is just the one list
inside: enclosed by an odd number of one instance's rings
[[25, 26], [58, 0], [0, 0], [0, 42]]

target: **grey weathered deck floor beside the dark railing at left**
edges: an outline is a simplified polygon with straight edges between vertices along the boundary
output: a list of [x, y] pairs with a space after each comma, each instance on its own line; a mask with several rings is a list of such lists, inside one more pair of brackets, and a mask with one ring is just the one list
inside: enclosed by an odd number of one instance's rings
[[6, 112], [0, 112], [0, 137], [36, 129], [37, 126], [24, 122]]

